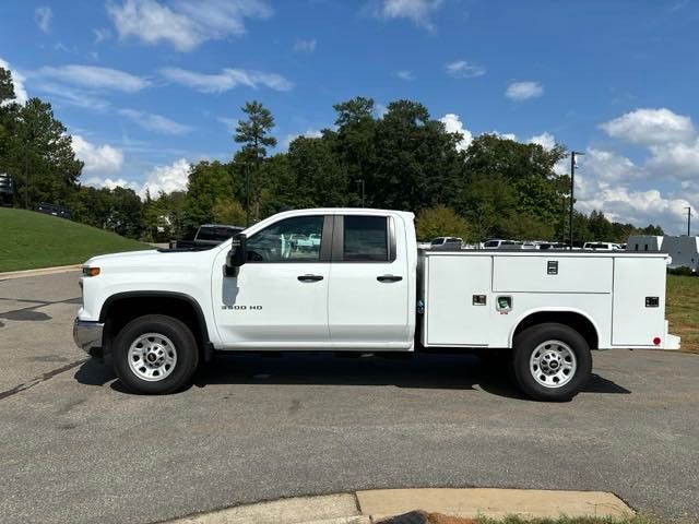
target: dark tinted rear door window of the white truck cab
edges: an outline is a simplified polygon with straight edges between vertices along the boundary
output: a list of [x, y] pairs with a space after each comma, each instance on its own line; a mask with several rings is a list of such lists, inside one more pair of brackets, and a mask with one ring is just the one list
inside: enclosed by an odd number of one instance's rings
[[388, 221], [383, 216], [344, 217], [343, 257], [350, 262], [389, 260]]

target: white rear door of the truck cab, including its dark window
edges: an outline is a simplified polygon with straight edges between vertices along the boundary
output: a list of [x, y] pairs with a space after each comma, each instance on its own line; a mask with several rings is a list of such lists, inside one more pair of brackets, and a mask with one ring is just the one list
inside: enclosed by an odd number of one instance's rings
[[405, 242], [396, 242], [394, 219], [335, 216], [328, 295], [330, 338], [335, 348], [412, 345], [407, 336], [407, 253]]

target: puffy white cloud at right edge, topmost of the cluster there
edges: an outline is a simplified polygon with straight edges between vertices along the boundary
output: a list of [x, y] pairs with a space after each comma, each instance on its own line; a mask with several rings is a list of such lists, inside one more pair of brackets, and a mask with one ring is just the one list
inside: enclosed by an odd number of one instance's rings
[[655, 145], [690, 140], [691, 119], [666, 109], [636, 109], [600, 126], [609, 136], [633, 144]]

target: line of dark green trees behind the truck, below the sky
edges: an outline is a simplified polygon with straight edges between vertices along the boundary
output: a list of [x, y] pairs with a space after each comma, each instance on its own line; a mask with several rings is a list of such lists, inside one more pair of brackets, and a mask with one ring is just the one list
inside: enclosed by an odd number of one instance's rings
[[[186, 191], [142, 200], [132, 189], [81, 186], [83, 163], [50, 104], [17, 104], [10, 72], [0, 69], [0, 172], [13, 181], [11, 205], [66, 205], [76, 221], [145, 240], [185, 238], [204, 223], [246, 225], [281, 210], [317, 206], [413, 211], [422, 239], [568, 238], [570, 178], [554, 170], [566, 156], [562, 145], [547, 150], [483, 134], [463, 148], [460, 133], [448, 132], [413, 100], [393, 102], [380, 116], [365, 97], [333, 108], [332, 129], [270, 154], [277, 144], [274, 117], [261, 103], [248, 102], [233, 136], [240, 147], [229, 162], [199, 162]], [[573, 230], [576, 242], [663, 233], [613, 223], [597, 211], [576, 213]]]

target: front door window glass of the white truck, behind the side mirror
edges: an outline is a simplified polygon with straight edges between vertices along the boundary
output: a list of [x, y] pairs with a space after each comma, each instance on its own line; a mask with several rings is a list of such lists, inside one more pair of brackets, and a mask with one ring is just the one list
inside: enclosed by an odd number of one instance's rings
[[280, 221], [248, 238], [248, 261], [318, 262], [322, 233], [322, 216]]

